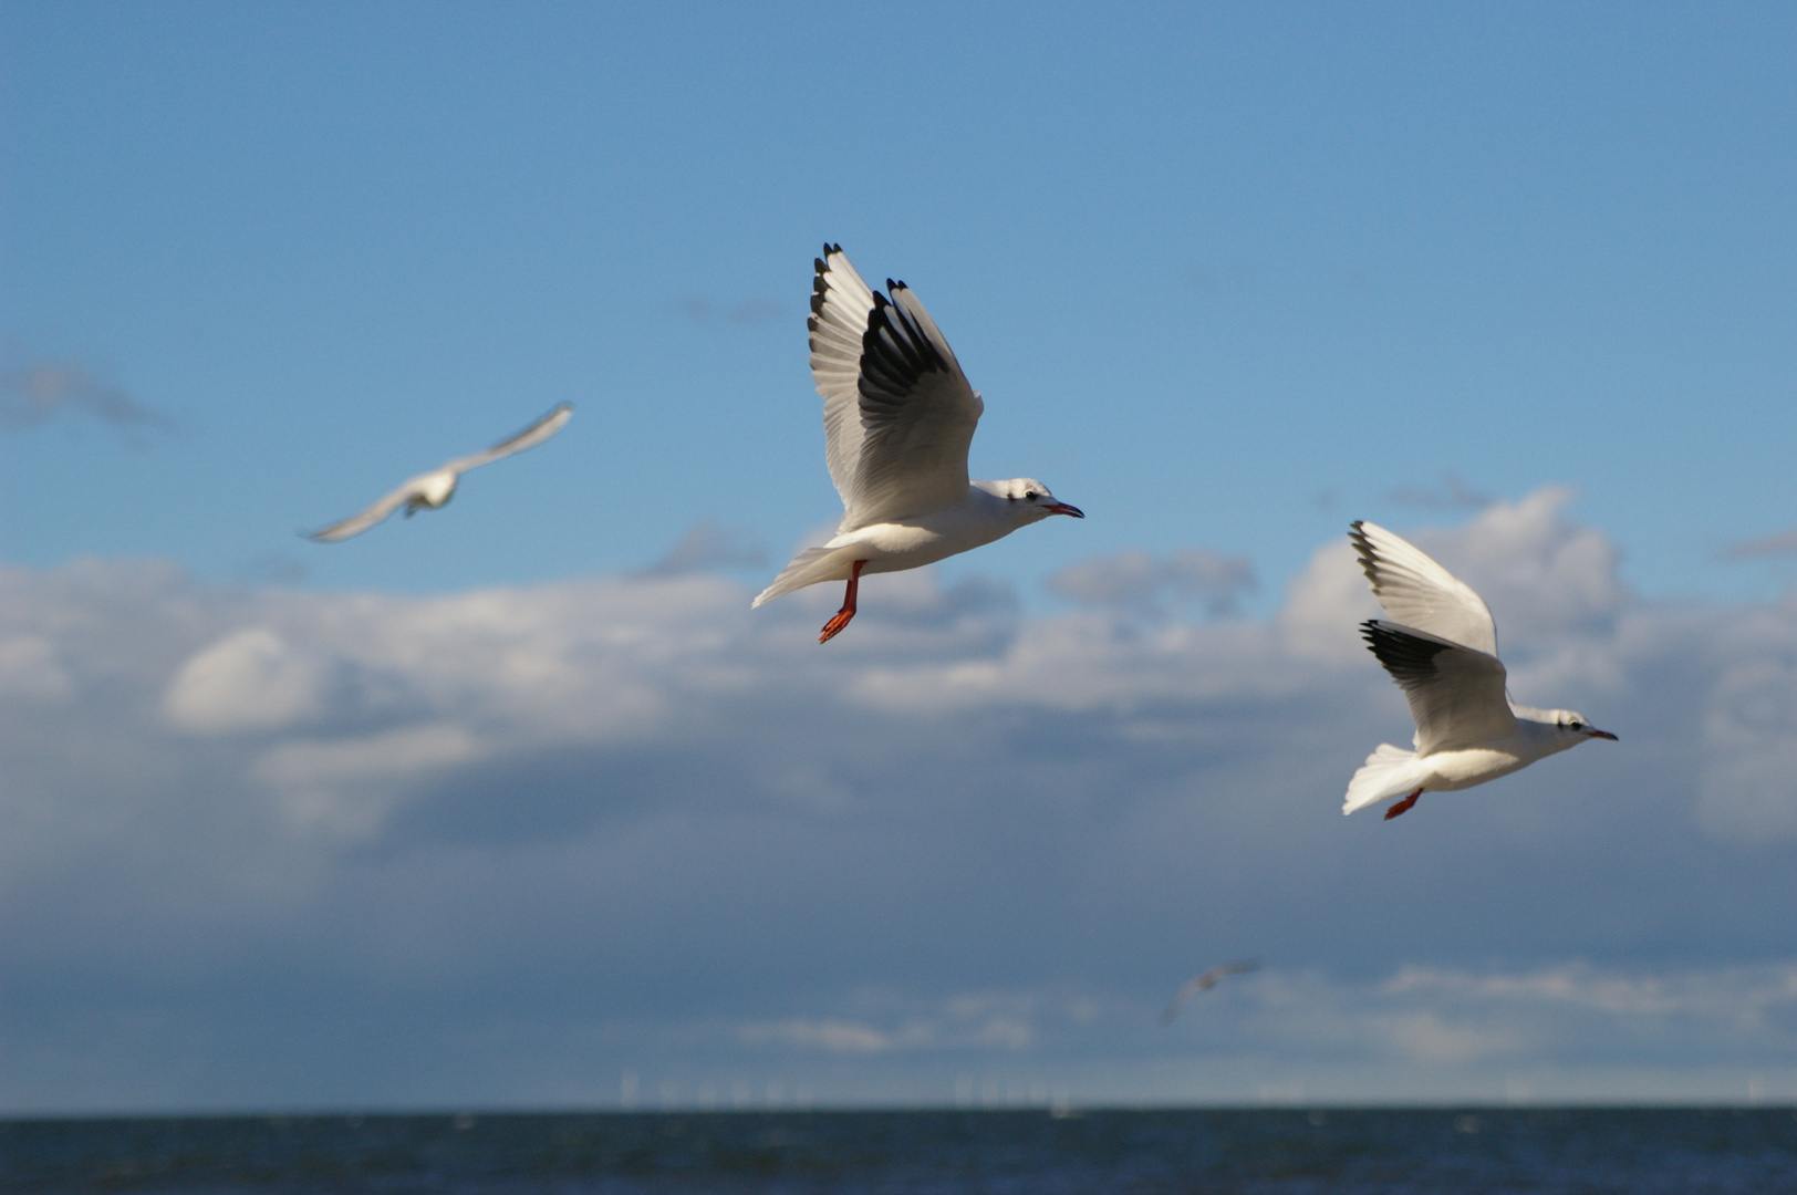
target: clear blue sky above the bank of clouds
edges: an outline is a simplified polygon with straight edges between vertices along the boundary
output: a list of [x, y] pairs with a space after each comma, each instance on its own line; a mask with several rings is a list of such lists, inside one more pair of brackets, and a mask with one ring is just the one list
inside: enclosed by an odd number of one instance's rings
[[[0, 552], [412, 591], [638, 568], [701, 518], [780, 555], [836, 514], [800, 331], [832, 239], [949, 331], [976, 473], [1091, 509], [1003, 573], [1206, 544], [1276, 593], [1454, 474], [1578, 485], [1646, 591], [1770, 597], [1790, 566], [1709, 564], [1797, 523], [1792, 34], [1775, 5], [11, 5], [9, 352], [180, 431], [7, 437], [32, 518]], [[293, 541], [559, 401], [573, 435], [455, 528]]]

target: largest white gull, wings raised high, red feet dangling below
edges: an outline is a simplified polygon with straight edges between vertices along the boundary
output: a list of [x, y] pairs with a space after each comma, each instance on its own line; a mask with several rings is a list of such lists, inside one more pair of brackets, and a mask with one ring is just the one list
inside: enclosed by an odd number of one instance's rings
[[810, 297], [810, 376], [823, 397], [825, 462], [843, 496], [836, 539], [792, 557], [755, 606], [825, 580], [846, 580], [832, 640], [855, 616], [861, 573], [920, 568], [1051, 514], [1085, 516], [1030, 478], [969, 482], [967, 446], [985, 404], [949, 341], [904, 282], [868, 289], [825, 244]]

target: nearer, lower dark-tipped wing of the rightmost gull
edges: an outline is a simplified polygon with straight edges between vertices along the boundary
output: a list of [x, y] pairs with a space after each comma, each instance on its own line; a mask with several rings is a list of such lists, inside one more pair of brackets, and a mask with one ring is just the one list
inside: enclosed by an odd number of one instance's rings
[[1411, 703], [1418, 755], [1490, 746], [1517, 730], [1497, 656], [1378, 618], [1362, 622], [1360, 636]]

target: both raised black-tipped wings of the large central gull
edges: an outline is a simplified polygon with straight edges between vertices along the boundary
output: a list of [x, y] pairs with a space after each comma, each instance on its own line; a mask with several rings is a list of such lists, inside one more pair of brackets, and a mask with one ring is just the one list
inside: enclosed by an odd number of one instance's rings
[[845, 532], [965, 501], [985, 410], [916, 295], [891, 279], [886, 289], [870, 289], [841, 246], [818, 261], [810, 367]]

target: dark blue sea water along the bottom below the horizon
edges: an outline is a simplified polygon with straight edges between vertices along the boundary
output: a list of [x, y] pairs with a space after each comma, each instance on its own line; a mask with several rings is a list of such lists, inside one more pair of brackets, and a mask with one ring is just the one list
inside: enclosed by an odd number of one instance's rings
[[1797, 1193], [1797, 1109], [0, 1121], [0, 1191]]

